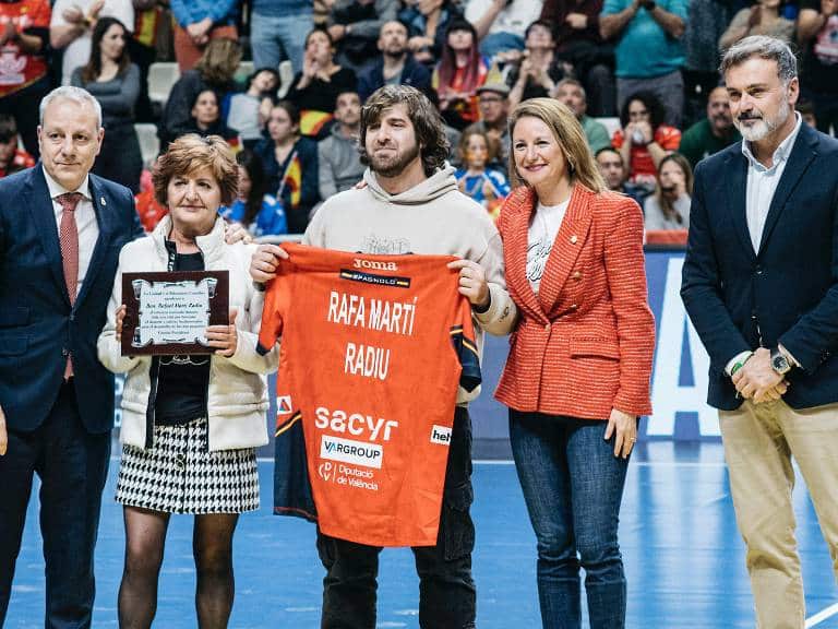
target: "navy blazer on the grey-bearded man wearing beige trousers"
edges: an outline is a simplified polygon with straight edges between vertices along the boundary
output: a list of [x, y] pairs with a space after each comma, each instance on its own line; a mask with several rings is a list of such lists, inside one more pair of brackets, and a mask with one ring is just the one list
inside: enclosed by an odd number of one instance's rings
[[838, 141], [805, 123], [792, 146], [754, 251], [740, 142], [695, 169], [681, 296], [710, 356], [708, 403], [742, 400], [725, 373], [740, 352], [781, 343], [793, 408], [838, 402]]

